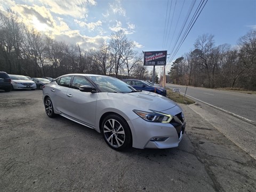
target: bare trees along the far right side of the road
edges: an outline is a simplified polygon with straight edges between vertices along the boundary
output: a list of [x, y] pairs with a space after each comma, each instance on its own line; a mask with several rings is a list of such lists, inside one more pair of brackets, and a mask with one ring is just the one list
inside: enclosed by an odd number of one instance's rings
[[175, 84], [256, 91], [256, 30], [239, 38], [236, 47], [215, 46], [213, 35], [199, 36], [194, 49], [173, 62], [169, 75]]

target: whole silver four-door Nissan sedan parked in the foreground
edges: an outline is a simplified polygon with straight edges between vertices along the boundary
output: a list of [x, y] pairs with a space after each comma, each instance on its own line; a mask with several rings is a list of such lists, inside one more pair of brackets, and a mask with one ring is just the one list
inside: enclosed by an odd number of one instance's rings
[[177, 147], [186, 126], [172, 100], [109, 76], [60, 76], [43, 87], [43, 101], [49, 117], [60, 114], [90, 127], [116, 150]]

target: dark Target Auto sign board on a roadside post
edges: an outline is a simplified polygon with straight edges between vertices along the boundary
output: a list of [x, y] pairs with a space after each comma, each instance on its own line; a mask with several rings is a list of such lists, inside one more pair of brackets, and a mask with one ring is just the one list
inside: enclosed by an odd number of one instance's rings
[[163, 66], [166, 65], [167, 51], [146, 51], [144, 52], [145, 66]]

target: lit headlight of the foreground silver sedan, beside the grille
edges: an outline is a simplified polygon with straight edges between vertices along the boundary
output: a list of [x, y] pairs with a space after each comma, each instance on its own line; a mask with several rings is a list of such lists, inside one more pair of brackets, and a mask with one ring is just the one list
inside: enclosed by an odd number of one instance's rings
[[138, 116], [140, 116], [141, 118], [143, 118], [146, 121], [149, 122], [156, 122], [156, 123], [170, 123], [172, 120], [172, 116], [169, 114], [164, 114], [155, 110], [151, 110], [151, 112], [147, 112], [147, 111], [141, 111], [141, 110], [133, 110], [133, 112], [135, 114], [137, 114]]

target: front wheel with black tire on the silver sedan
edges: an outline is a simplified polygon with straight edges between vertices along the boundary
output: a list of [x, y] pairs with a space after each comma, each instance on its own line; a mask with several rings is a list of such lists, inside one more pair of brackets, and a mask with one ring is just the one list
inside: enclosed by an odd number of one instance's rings
[[116, 114], [108, 115], [101, 126], [103, 138], [109, 147], [115, 150], [131, 147], [132, 133], [124, 118]]

